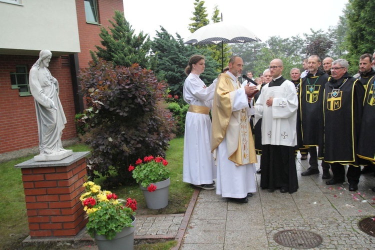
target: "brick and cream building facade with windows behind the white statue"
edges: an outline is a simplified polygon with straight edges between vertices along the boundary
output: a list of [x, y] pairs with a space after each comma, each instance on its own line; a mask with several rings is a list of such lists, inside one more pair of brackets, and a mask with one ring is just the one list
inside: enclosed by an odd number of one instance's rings
[[83, 111], [77, 75], [114, 10], [123, 11], [122, 0], [0, 0], [0, 153], [38, 145], [28, 72], [42, 49], [52, 52], [48, 68], [59, 83], [62, 140], [76, 137], [74, 116]]

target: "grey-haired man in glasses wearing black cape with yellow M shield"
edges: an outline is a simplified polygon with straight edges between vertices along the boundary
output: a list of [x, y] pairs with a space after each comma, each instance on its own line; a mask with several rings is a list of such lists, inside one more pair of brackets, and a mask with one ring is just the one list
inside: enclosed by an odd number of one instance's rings
[[349, 191], [358, 189], [360, 167], [357, 140], [362, 120], [364, 87], [359, 79], [347, 73], [344, 59], [332, 62], [332, 77], [325, 84], [323, 100], [324, 143], [319, 145], [319, 157], [330, 163], [333, 178], [327, 185], [345, 181], [344, 165], [348, 164]]

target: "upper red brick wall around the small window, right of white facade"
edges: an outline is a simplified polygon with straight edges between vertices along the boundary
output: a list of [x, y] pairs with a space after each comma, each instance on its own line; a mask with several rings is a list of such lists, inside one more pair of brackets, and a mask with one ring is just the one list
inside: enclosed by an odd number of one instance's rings
[[114, 10], [123, 12], [122, 0], [97, 0], [99, 23], [86, 23], [83, 0], [75, 0], [78, 19], [78, 31], [80, 42], [80, 53], [78, 54], [79, 67], [87, 67], [88, 61], [91, 60], [90, 50], [95, 51], [95, 45], [100, 44], [100, 27], [112, 26], [108, 19], [113, 20]]

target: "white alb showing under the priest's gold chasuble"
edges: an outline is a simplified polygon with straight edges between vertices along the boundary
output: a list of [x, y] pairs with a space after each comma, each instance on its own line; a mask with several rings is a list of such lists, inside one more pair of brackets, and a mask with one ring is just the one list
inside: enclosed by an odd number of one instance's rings
[[[236, 77], [229, 71], [226, 72], [232, 78], [232, 83], [234, 86], [234, 91], [230, 92], [230, 103], [232, 112], [246, 108], [246, 112], [250, 115], [250, 108], [248, 106], [247, 95], [243, 87], [240, 87], [236, 81]], [[234, 116], [230, 118], [231, 121], [228, 124], [227, 132], [233, 130], [230, 126], [234, 123], [240, 123], [240, 120], [233, 120]], [[248, 133], [251, 133], [249, 124], [247, 122]], [[239, 132], [239, 131], [238, 131]], [[235, 163], [228, 159], [230, 152], [233, 148], [228, 148], [228, 145], [232, 147], [233, 143], [236, 141], [233, 137], [225, 136], [221, 143], [217, 147], [216, 153], [216, 165], [217, 165], [217, 181], [216, 181], [216, 194], [222, 197], [232, 197], [232, 198], [243, 198], [247, 196], [248, 192], [256, 192], [255, 176], [256, 171], [255, 164], [249, 163], [244, 165], [236, 166]]]

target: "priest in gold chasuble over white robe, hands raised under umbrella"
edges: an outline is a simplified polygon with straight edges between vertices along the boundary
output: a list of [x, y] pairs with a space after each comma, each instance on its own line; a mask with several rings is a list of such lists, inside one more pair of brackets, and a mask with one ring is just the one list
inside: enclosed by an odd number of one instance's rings
[[235, 202], [247, 202], [256, 191], [256, 154], [250, 123], [248, 96], [254, 85], [241, 87], [237, 77], [243, 61], [229, 59], [229, 70], [218, 78], [212, 107], [211, 148], [217, 165], [216, 194]]

